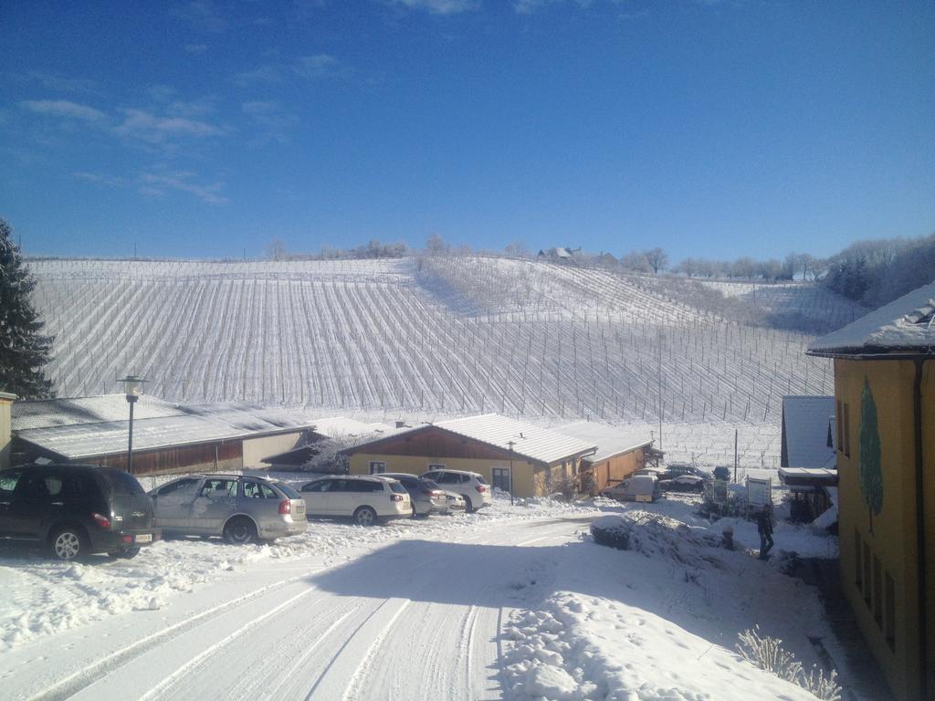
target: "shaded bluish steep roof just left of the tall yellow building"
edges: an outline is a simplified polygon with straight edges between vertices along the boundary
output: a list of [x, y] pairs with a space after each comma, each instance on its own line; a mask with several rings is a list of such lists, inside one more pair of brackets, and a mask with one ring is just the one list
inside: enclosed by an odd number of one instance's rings
[[829, 425], [833, 418], [833, 396], [784, 396], [783, 457], [785, 464], [790, 467], [834, 465], [834, 446], [827, 444]]

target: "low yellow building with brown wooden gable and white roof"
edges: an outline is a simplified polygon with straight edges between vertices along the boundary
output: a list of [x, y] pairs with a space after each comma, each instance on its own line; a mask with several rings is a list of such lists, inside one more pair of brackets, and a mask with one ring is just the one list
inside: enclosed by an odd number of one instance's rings
[[496, 414], [408, 428], [342, 451], [352, 475], [468, 470], [514, 496], [542, 496], [578, 474], [596, 446]]

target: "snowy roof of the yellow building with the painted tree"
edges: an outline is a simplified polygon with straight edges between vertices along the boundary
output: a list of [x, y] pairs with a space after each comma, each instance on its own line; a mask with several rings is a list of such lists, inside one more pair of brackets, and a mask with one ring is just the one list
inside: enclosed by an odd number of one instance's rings
[[813, 355], [857, 355], [909, 350], [935, 354], [935, 282], [904, 294], [827, 336], [813, 341]]

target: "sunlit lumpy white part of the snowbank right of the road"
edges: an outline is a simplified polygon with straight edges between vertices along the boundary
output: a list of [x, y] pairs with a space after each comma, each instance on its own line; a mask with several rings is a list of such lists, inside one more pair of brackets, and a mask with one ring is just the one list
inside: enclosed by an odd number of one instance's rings
[[519, 699], [814, 700], [721, 645], [609, 598], [557, 592], [507, 633], [505, 676]]

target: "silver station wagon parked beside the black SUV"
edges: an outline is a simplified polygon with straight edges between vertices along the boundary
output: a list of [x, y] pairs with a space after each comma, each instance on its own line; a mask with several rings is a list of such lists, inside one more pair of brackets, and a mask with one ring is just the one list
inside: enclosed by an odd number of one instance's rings
[[189, 475], [150, 492], [165, 534], [222, 536], [255, 543], [305, 533], [302, 495], [283, 482], [247, 475]]

